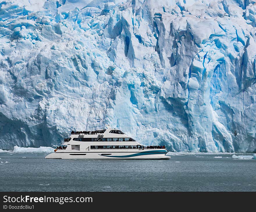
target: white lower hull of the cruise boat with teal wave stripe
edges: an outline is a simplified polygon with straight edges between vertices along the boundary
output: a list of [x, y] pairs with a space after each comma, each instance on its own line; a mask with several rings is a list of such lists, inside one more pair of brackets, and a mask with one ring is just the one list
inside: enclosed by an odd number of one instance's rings
[[47, 159], [170, 159], [166, 150], [151, 150], [138, 152], [54, 152]]

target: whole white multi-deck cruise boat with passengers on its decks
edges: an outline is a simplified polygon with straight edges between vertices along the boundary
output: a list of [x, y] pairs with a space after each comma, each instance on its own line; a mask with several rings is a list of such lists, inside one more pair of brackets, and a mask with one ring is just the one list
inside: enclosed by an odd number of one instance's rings
[[73, 132], [54, 153], [55, 159], [170, 159], [163, 146], [146, 148], [118, 129]]

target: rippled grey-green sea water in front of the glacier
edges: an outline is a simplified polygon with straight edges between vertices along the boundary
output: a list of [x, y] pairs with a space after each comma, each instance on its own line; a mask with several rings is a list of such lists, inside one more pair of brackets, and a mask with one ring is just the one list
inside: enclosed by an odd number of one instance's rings
[[175, 154], [170, 160], [45, 155], [0, 153], [0, 191], [256, 191], [256, 160], [232, 154]]

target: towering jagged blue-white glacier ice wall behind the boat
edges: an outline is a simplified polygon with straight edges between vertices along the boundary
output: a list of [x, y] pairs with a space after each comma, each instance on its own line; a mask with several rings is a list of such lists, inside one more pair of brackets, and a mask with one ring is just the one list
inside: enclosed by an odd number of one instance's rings
[[106, 123], [169, 151], [255, 152], [255, 14], [256, 0], [1, 1], [0, 147]]

